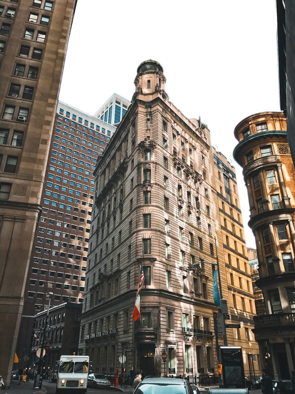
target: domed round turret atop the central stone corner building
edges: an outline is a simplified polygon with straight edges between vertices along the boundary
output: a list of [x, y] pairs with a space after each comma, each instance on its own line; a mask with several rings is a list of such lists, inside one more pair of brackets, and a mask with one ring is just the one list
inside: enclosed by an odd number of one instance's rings
[[152, 94], [155, 91], [164, 90], [165, 82], [166, 78], [160, 63], [151, 59], [140, 63], [134, 80], [136, 92]]

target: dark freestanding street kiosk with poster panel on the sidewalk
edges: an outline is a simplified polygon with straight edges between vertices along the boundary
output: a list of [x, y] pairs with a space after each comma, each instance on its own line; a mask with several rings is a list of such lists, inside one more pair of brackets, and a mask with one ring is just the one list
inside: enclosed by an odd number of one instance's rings
[[240, 346], [220, 346], [223, 387], [245, 388], [243, 353]]

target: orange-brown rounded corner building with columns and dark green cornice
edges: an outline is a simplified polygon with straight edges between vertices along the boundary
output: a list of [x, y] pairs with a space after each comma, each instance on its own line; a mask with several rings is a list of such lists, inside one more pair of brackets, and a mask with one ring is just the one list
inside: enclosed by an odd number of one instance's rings
[[254, 317], [261, 364], [274, 378], [294, 370], [295, 230], [294, 167], [282, 112], [262, 112], [235, 128], [235, 160], [243, 167], [256, 240], [265, 314]]

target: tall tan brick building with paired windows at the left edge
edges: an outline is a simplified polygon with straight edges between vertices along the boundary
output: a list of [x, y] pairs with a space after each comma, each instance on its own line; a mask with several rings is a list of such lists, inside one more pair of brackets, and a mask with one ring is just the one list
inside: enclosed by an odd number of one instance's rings
[[0, 1], [0, 370], [7, 386], [75, 4]]

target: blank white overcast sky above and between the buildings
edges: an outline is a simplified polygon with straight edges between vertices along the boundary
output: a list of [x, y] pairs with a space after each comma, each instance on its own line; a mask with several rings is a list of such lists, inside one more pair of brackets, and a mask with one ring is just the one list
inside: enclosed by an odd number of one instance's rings
[[[166, 92], [188, 118], [201, 116], [229, 160], [234, 127], [280, 111], [275, 0], [78, 0], [59, 99], [94, 112], [116, 92], [131, 100], [138, 65], [161, 63]], [[249, 203], [237, 172], [247, 247]]]

